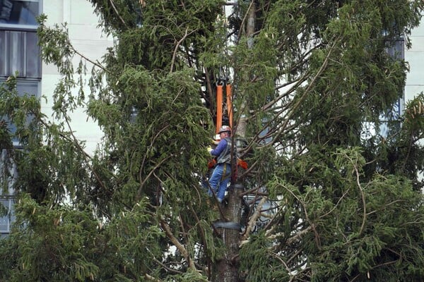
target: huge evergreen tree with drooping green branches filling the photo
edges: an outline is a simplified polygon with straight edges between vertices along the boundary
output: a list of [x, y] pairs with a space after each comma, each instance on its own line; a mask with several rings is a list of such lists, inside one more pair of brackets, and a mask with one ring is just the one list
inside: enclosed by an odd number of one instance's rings
[[[90, 2], [117, 39], [91, 71], [39, 19], [54, 121], [16, 78], [0, 88], [18, 171], [2, 169], [17, 218], [1, 281], [423, 280], [423, 94], [386, 118], [408, 71], [387, 49], [411, 46], [422, 1]], [[223, 80], [249, 168], [216, 206], [201, 178]], [[104, 133], [93, 155], [70, 128], [80, 106]]]

